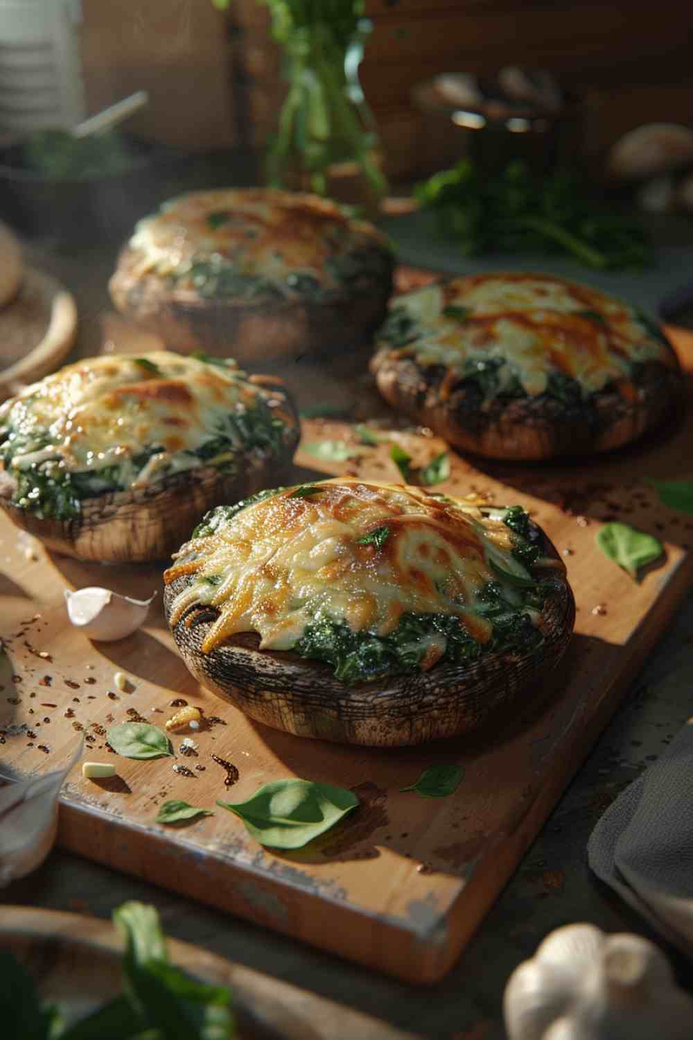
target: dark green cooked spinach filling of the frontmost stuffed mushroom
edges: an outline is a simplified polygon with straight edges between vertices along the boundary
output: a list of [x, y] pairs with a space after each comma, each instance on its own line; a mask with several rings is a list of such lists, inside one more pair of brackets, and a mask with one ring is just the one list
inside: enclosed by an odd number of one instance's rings
[[[242, 510], [283, 490], [262, 491], [235, 505], [211, 510], [195, 528], [192, 538], [213, 535]], [[540, 554], [538, 528], [519, 505], [506, 510], [503, 522], [512, 532], [513, 556], [526, 568], [531, 568]], [[378, 531], [383, 529], [376, 528]], [[438, 664], [471, 662], [492, 652], [527, 653], [543, 640], [528, 610], [540, 610], [547, 597], [555, 592], [555, 586], [551, 581], [534, 578], [510, 581], [513, 578], [514, 575], [503, 572], [499, 580], [487, 581], [478, 593], [476, 613], [492, 625], [486, 643], [474, 639], [456, 614], [407, 612], [394, 631], [388, 635], [376, 635], [367, 629], [354, 632], [345, 621], [318, 613], [291, 652], [329, 665], [335, 676], [346, 683], [371, 682], [388, 675], [418, 672], [431, 646], [445, 646], [436, 667]], [[217, 584], [222, 576], [211, 575], [204, 580], [208, 584]]]

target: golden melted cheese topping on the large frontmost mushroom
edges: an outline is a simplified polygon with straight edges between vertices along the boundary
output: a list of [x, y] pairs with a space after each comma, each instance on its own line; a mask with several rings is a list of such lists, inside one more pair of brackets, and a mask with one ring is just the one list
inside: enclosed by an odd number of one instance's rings
[[[482, 586], [498, 580], [490, 562], [529, 577], [511, 555], [505, 524], [482, 519], [475, 506], [355, 478], [313, 487], [319, 490], [308, 497], [289, 489], [252, 503], [177, 554], [165, 581], [196, 577], [177, 597], [170, 623], [192, 604], [220, 612], [205, 653], [238, 632], [258, 632], [262, 649], [290, 650], [316, 617], [387, 635], [409, 610], [457, 615], [484, 643], [491, 625], [475, 602]], [[379, 546], [363, 541], [383, 527]]]

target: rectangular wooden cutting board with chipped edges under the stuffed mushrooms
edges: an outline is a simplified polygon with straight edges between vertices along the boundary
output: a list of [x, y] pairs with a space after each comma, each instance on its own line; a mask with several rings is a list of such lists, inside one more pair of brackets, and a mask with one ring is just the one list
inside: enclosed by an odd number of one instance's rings
[[[117, 335], [110, 330], [111, 340]], [[689, 372], [693, 335], [669, 330]], [[124, 348], [124, 347], [123, 347]], [[328, 399], [381, 430], [414, 458], [445, 445], [429, 432], [403, 432], [379, 402], [353, 355], [328, 367], [288, 373], [300, 405]], [[690, 375], [689, 375], [690, 384]], [[690, 387], [689, 387], [689, 398]], [[297, 456], [296, 480], [316, 469], [398, 479], [389, 446], [363, 446], [352, 426], [305, 420], [303, 444], [344, 440], [345, 463]], [[117, 765], [112, 780], [70, 775], [59, 840], [71, 850], [248, 917], [415, 983], [450, 968], [511, 875], [564, 786], [593, 745], [691, 586], [693, 517], [660, 504], [645, 482], [690, 478], [693, 414], [683, 424], [612, 457], [562, 466], [510, 466], [452, 457], [453, 493], [482, 492], [519, 502], [552, 538], [578, 603], [576, 634], [544, 688], [528, 691], [512, 718], [464, 738], [414, 749], [372, 750], [312, 742], [257, 725], [191, 678], [155, 601], [145, 626], [127, 640], [92, 644], [72, 629], [63, 588], [101, 584], [136, 597], [161, 589], [161, 567], [87, 566], [47, 553], [0, 518], [0, 772], [26, 775], [65, 762], [85, 733], [90, 759]], [[601, 522], [623, 519], [663, 540], [666, 558], [634, 582], [595, 547]], [[114, 673], [131, 678], [117, 690]], [[163, 726], [171, 701], [198, 705], [209, 720], [195, 758], [134, 761], [109, 753], [105, 728], [133, 713]], [[216, 722], [212, 720], [216, 719]], [[10, 735], [10, 724], [30, 733]], [[176, 738], [178, 749], [180, 738]], [[233, 788], [211, 755], [233, 762]], [[429, 765], [457, 761], [457, 791], [429, 800], [400, 788]], [[196, 769], [201, 766], [201, 769]], [[242, 801], [269, 780], [298, 776], [353, 788], [361, 807], [310, 849], [263, 849], [216, 799]], [[154, 823], [170, 798], [213, 808], [184, 828]]]

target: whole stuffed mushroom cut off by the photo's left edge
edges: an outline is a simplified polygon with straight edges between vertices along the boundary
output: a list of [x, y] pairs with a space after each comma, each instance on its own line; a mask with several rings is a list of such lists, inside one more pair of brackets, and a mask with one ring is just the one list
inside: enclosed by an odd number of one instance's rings
[[275, 383], [165, 350], [68, 365], [0, 407], [0, 505], [71, 556], [161, 558], [290, 463], [298, 419]]

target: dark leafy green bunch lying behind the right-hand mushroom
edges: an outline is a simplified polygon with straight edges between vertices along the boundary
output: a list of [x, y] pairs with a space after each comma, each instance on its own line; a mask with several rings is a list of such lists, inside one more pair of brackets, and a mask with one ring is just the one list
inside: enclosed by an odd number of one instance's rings
[[488, 176], [471, 159], [415, 188], [465, 256], [564, 253], [598, 269], [651, 262], [642, 228], [594, 199], [574, 171], [534, 175], [521, 160]]

